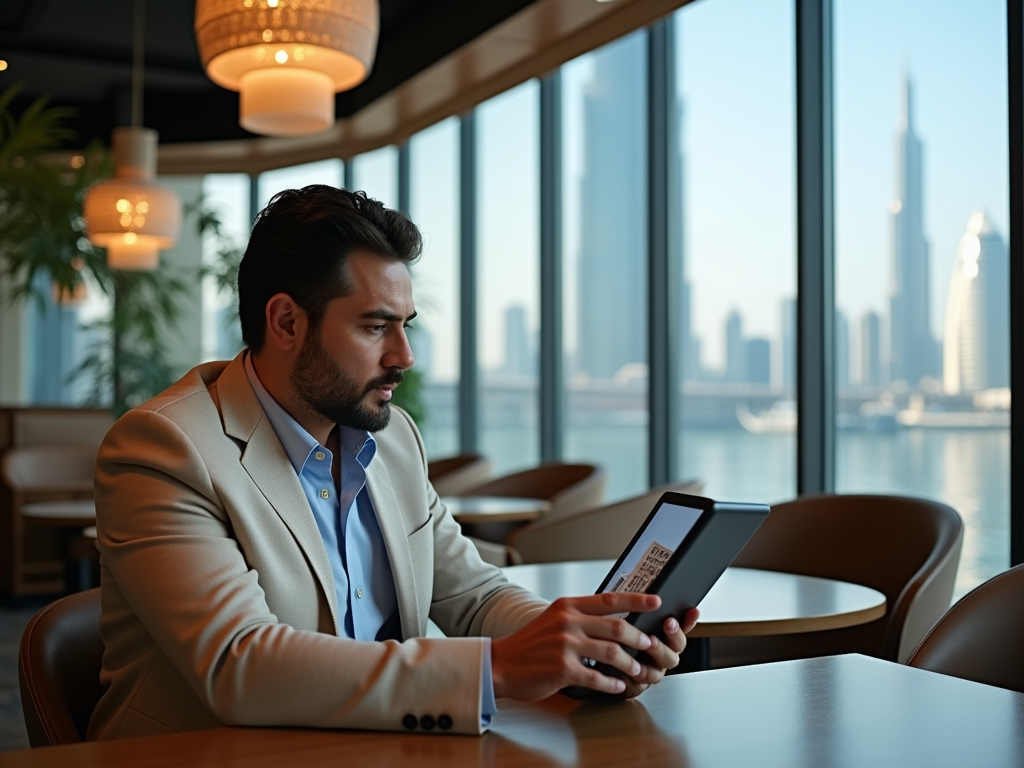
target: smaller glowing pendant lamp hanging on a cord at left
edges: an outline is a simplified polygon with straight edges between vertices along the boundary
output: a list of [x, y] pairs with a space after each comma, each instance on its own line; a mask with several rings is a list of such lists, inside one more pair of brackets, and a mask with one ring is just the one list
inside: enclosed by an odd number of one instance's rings
[[153, 181], [157, 132], [142, 128], [142, 0], [135, 0], [132, 125], [114, 129], [114, 178], [93, 184], [83, 213], [89, 241], [106, 249], [112, 269], [153, 270], [160, 251], [170, 248], [181, 227], [181, 201]]

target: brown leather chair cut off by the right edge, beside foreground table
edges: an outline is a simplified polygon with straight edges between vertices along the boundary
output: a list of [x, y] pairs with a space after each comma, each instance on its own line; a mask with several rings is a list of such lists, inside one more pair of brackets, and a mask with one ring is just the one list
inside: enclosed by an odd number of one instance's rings
[[1024, 693], [1024, 565], [966, 595], [928, 633], [907, 664]]

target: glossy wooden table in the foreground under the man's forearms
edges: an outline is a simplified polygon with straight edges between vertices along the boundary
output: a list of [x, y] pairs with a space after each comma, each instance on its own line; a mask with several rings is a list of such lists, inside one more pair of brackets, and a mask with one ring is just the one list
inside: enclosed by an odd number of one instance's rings
[[502, 700], [472, 736], [219, 728], [25, 750], [10, 768], [1015, 768], [1024, 694], [858, 655], [666, 678], [635, 701]]

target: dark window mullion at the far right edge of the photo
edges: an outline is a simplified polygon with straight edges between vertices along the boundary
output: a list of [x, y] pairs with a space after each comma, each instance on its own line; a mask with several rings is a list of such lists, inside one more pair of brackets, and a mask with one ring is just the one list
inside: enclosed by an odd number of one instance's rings
[[1024, 562], [1024, 2], [1007, 2], [1010, 131], [1010, 564]]

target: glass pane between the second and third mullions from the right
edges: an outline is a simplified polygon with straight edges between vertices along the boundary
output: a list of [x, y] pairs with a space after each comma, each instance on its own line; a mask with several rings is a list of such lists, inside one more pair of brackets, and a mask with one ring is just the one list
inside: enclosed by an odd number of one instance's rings
[[797, 485], [793, 3], [693, 3], [675, 23], [679, 475], [781, 501]]

